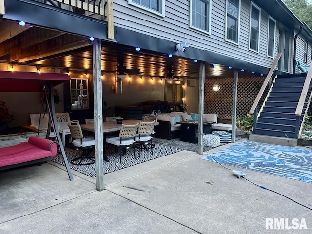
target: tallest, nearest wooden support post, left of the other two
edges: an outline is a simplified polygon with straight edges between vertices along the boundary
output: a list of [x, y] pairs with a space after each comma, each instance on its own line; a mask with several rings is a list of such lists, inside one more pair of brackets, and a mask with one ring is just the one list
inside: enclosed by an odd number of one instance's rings
[[102, 72], [101, 41], [93, 41], [93, 94], [94, 94], [94, 136], [96, 153], [96, 189], [104, 189], [103, 174], [103, 115], [102, 115]]

